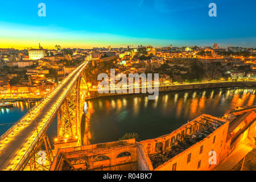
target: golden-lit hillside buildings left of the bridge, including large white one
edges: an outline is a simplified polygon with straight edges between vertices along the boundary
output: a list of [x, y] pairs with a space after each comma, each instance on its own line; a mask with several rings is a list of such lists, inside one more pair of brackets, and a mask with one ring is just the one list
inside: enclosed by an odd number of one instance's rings
[[[42, 98], [71, 73], [77, 52], [67, 55], [61, 49], [0, 49], [0, 99]], [[70, 61], [70, 63], [67, 61]]]

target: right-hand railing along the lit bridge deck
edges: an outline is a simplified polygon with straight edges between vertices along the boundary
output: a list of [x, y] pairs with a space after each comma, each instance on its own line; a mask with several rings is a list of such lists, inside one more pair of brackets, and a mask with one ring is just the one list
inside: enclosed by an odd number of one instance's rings
[[[81, 71], [80, 71], [81, 72]], [[79, 72], [79, 73], [80, 73]], [[69, 76], [71, 76], [69, 74]], [[74, 82], [76, 81], [76, 77], [73, 78], [73, 80], [71, 81], [71, 85], [74, 84]], [[64, 94], [63, 98], [61, 98], [61, 101], [59, 102], [59, 104], [57, 104], [55, 106], [55, 110], [53, 110], [52, 114], [50, 115], [50, 117], [48, 118], [48, 121], [44, 124], [43, 128], [39, 131], [38, 135], [36, 135], [36, 138], [34, 139], [34, 141], [30, 144], [30, 147], [28, 147], [27, 151], [25, 152], [25, 154], [22, 156], [22, 158], [19, 160], [19, 163], [15, 166], [14, 170], [19, 170], [20, 168], [22, 168], [22, 165], [24, 164], [25, 160], [28, 158], [30, 152], [33, 150], [34, 146], [36, 145], [37, 142], [39, 142], [40, 137], [42, 136], [43, 133], [47, 130], [47, 127], [51, 124], [52, 119], [55, 117], [55, 114], [57, 112], [57, 110], [59, 109], [60, 105], [63, 103], [63, 101], [65, 100], [65, 97], [67, 96], [67, 94], [69, 93], [69, 90], [72, 88], [72, 86], [66, 90], [66, 93]], [[27, 141], [25, 142], [27, 143]]]

